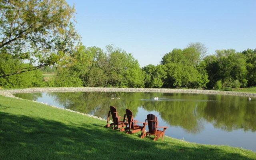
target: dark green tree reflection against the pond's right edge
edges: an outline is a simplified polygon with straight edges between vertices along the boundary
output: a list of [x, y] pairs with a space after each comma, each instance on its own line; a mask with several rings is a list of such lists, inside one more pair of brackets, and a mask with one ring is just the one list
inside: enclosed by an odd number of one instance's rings
[[204, 119], [214, 127], [232, 131], [237, 129], [256, 131], [256, 108], [246, 97], [216, 95], [218, 102], [207, 103]]

